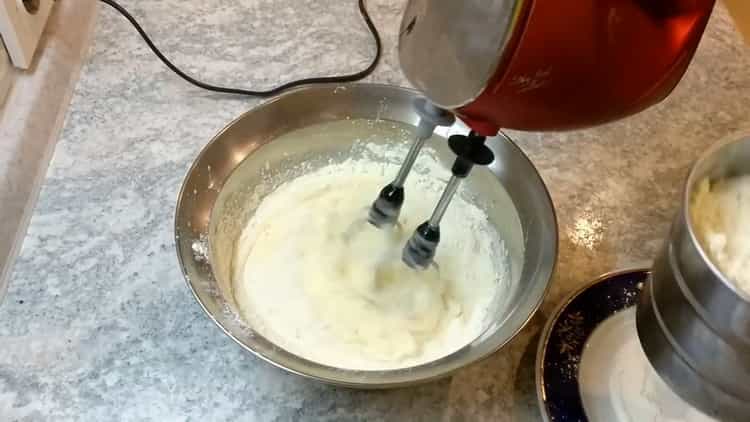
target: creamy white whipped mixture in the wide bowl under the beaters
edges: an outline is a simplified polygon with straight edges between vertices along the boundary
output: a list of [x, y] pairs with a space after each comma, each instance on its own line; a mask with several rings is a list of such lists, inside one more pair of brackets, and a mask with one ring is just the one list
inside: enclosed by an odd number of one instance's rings
[[404, 265], [406, 240], [450, 174], [428, 151], [419, 163], [428, 171], [410, 175], [393, 229], [376, 229], [366, 216], [394, 163], [349, 159], [263, 199], [235, 246], [242, 317], [289, 352], [348, 369], [426, 363], [479, 336], [508, 277], [505, 249], [484, 212], [457, 195], [441, 224], [439, 269]]

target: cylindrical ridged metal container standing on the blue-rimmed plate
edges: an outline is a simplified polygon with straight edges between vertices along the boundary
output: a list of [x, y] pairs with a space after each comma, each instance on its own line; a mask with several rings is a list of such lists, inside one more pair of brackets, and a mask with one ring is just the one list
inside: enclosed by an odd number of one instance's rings
[[637, 308], [638, 336], [659, 375], [721, 420], [750, 420], [750, 301], [701, 247], [689, 207], [708, 178], [750, 174], [750, 138], [722, 143], [693, 166], [682, 208]]

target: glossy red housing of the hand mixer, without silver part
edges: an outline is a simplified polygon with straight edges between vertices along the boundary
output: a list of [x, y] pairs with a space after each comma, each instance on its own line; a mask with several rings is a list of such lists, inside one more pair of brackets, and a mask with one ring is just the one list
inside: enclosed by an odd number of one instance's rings
[[530, 0], [490, 83], [457, 114], [489, 136], [637, 113], [677, 85], [714, 2]]

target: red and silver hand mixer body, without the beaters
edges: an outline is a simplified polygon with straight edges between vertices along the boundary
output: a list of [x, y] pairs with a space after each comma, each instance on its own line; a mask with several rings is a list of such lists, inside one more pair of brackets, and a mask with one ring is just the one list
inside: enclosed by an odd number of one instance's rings
[[477, 133], [593, 126], [676, 86], [715, 0], [411, 0], [407, 78]]

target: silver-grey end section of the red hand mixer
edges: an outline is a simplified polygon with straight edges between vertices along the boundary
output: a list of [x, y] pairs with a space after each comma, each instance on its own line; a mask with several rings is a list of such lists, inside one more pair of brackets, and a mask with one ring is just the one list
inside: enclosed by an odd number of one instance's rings
[[398, 45], [406, 78], [443, 108], [471, 102], [495, 74], [527, 2], [410, 0]]

